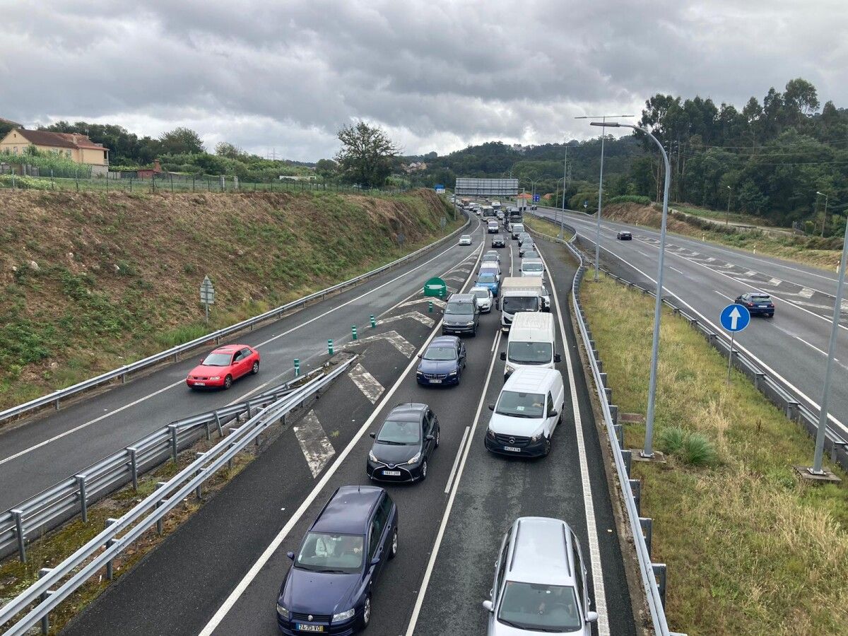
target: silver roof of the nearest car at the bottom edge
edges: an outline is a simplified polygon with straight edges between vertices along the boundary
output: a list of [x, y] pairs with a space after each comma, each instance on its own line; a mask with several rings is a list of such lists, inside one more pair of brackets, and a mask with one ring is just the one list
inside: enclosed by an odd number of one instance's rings
[[507, 578], [524, 583], [573, 585], [571, 529], [560, 519], [522, 516], [512, 525]]

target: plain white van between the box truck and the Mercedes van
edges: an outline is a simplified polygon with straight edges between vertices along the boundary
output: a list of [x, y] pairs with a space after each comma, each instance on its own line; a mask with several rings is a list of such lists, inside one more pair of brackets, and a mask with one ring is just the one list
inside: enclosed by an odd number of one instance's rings
[[504, 381], [522, 367], [553, 369], [560, 361], [554, 352], [554, 316], [533, 311], [520, 311], [512, 320], [506, 351], [500, 359], [506, 361]]

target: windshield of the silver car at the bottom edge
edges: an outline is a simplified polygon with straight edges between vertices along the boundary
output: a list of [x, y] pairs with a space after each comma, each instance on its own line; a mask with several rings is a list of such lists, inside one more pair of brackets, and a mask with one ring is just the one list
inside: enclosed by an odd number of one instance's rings
[[498, 620], [510, 627], [540, 632], [566, 632], [581, 627], [577, 595], [566, 585], [507, 581]]

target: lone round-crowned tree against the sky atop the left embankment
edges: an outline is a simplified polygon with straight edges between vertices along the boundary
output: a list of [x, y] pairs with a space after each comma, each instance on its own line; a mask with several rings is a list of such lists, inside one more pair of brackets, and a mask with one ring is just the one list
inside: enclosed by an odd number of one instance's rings
[[392, 171], [392, 159], [400, 153], [385, 131], [364, 121], [338, 131], [342, 148], [336, 154], [345, 181], [362, 187], [380, 187]]

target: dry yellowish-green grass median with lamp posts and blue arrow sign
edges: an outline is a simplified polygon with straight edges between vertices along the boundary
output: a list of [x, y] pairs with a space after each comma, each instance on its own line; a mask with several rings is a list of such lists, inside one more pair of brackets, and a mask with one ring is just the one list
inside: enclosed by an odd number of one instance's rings
[[[581, 292], [622, 412], [644, 415], [654, 300], [608, 278]], [[623, 302], [622, 302], [623, 301]], [[752, 328], [756, 328], [753, 326]], [[668, 564], [672, 628], [701, 634], [837, 634], [848, 625], [848, 479], [810, 485], [812, 439], [665, 310], [656, 447], [667, 464], [633, 462], [652, 558]], [[626, 426], [641, 448], [644, 425]], [[712, 456], [711, 456], [712, 455]]]

